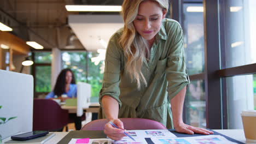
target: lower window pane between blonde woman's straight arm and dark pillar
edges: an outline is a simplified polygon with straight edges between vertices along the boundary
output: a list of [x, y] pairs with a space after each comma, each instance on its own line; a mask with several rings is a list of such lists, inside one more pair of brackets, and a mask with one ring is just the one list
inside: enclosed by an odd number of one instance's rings
[[206, 128], [205, 82], [191, 81], [184, 102], [185, 122], [194, 127]]

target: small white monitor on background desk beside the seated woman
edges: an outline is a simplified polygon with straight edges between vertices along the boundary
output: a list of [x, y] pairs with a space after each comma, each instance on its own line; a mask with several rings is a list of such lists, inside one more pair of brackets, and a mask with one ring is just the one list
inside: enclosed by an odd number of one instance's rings
[[91, 85], [85, 82], [77, 83], [77, 116], [83, 115], [84, 110], [90, 106]]

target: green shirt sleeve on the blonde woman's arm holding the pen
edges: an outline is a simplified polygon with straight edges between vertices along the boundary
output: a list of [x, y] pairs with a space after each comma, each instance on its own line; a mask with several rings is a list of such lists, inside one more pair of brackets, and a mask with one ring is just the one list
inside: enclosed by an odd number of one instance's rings
[[121, 72], [121, 53], [120, 45], [118, 44], [119, 34], [115, 33], [110, 38], [105, 58], [105, 69], [102, 82], [102, 88], [99, 95], [99, 101], [104, 95], [108, 95], [118, 101], [119, 107], [121, 107], [121, 101], [119, 99], [120, 89], [120, 72]]

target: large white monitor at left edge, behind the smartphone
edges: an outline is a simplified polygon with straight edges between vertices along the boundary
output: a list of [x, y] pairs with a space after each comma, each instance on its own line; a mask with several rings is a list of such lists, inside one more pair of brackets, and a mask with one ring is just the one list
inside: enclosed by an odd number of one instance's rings
[[33, 76], [0, 70], [0, 94], [0, 117], [16, 117], [0, 125], [2, 139], [32, 131]]

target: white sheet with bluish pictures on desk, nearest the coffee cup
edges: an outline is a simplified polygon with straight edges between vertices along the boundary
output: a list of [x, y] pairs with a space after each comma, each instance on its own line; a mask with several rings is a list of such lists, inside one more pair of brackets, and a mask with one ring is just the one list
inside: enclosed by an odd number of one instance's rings
[[204, 143], [211, 143], [211, 144], [234, 144], [235, 142], [231, 142], [225, 137], [220, 135], [206, 135], [206, 136], [192, 136], [192, 137], [161, 137], [156, 138], [153, 137], [151, 140], [155, 144], [204, 144]]

